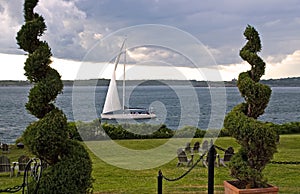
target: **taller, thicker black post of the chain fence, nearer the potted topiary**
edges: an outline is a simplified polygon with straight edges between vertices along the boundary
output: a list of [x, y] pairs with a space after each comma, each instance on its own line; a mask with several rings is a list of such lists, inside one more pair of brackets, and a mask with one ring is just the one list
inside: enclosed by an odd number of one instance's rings
[[208, 194], [214, 193], [215, 155], [216, 155], [215, 146], [211, 141], [211, 146], [209, 149], [209, 157], [208, 157]]

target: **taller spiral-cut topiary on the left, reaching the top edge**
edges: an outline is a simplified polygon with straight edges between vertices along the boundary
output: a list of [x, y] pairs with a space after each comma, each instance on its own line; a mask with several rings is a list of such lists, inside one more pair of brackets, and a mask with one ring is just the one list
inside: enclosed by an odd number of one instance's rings
[[50, 67], [51, 49], [39, 40], [46, 30], [44, 18], [34, 12], [38, 0], [25, 0], [25, 24], [17, 34], [17, 43], [28, 52], [25, 75], [33, 84], [26, 109], [38, 120], [30, 124], [24, 143], [31, 152], [47, 163], [38, 193], [86, 193], [91, 188], [92, 164], [85, 148], [68, 138], [64, 113], [54, 101], [62, 92], [59, 73]]

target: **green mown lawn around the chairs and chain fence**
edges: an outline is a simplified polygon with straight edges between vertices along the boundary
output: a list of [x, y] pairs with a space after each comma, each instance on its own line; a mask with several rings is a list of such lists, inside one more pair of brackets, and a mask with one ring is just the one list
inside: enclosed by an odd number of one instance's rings
[[[166, 140], [120, 140], [118, 145], [129, 149], [146, 150], [162, 145]], [[185, 142], [184, 139], [179, 141]], [[201, 141], [200, 139], [194, 139]], [[186, 142], [185, 142], [186, 143]], [[185, 143], [182, 144], [184, 147]], [[89, 144], [98, 144], [89, 142]], [[105, 146], [105, 142], [101, 142]], [[227, 148], [233, 146], [235, 150], [238, 144], [229, 137], [218, 138], [216, 145]], [[11, 148], [11, 153], [7, 154], [11, 161], [16, 161], [17, 157], [26, 153], [26, 150]], [[278, 153], [275, 154], [275, 161], [300, 161], [300, 135], [282, 135], [278, 145]], [[176, 150], [174, 150], [176, 154]], [[220, 154], [222, 154], [219, 151]], [[27, 154], [27, 153], [26, 153]], [[128, 170], [107, 164], [101, 157], [97, 157], [90, 152], [93, 161], [93, 177], [95, 179], [93, 187], [94, 193], [157, 193], [157, 175], [162, 170], [164, 176], [176, 178], [188, 170], [188, 167], [176, 167], [177, 159], [151, 168], [148, 170]], [[198, 156], [199, 157], [199, 156]], [[197, 158], [196, 158], [197, 159]], [[280, 193], [299, 193], [300, 174], [299, 165], [269, 164], [264, 170], [265, 177], [269, 183], [276, 185]], [[207, 193], [207, 169], [199, 163], [186, 177], [176, 182], [163, 180], [163, 193]], [[223, 193], [223, 181], [231, 180], [229, 170], [225, 167], [215, 168], [215, 193]], [[12, 187], [22, 183], [22, 177], [9, 178], [9, 174], [0, 174], [0, 189]]]

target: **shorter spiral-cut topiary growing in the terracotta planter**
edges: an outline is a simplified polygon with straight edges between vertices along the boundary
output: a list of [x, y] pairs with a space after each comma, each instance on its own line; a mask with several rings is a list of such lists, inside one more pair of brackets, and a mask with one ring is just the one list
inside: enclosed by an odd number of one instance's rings
[[277, 150], [279, 136], [273, 125], [257, 120], [264, 113], [272, 91], [259, 82], [266, 65], [257, 55], [261, 51], [258, 32], [248, 25], [244, 36], [248, 42], [240, 56], [251, 65], [251, 70], [240, 73], [237, 86], [246, 102], [226, 115], [224, 127], [241, 145], [231, 160], [231, 175], [243, 188], [260, 188], [267, 186], [262, 171]]

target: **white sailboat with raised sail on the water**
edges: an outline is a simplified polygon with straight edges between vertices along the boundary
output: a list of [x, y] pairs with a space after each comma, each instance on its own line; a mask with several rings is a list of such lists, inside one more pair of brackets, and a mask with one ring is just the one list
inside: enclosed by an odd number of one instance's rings
[[[123, 41], [120, 52], [115, 60], [115, 66], [108, 86], [105, 103], [103, 106], [101, 119], [151, 119], [156, 118], [154, 113], [151, 113], [146, 108], [127, 108], [125, 106], [125, 64], [126, 64], [126, 49], [123, 52], [126, 39]], [[122, 105], [118, 94], [116, 82], [116, 70], [120, 62], [121, 55], [124, 54], [123, 66], [123, 100]]]

